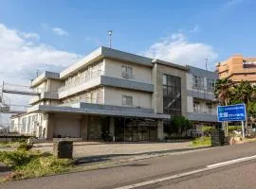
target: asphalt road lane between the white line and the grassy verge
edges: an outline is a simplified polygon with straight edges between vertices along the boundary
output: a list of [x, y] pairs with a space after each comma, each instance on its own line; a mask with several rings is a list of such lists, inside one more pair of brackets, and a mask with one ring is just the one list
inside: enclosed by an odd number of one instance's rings
[[[237, 158], [243, 158], [243, 157], [252, 156], [252, 155], [256, 155], [256, 143], [248, 143], [248, 144], [237, 145], [237, 146], [215, 147], [208, 150], [196, 151], [191, 153], [184, 153], [184, 154], [178, 154], [178, 155], [152, 158], [147, 160], [140, 160], [133, 163], [123, 163], [123, 164], [120, 164], [118, 167], [65, 174], [65, 175], [52, 176], [52, 177], [45, 177], [45, 178], [33, 179], [33, 180], [20, 180], [20, 181], [7, 182], [0, 185], [0, 188], [9, 188], [9, 189], [10, 188], [11, 189], [117, 188], [120, 186], [129, 185], [129, 184], [133, 184], [141, 181], [154, 180], [157, 178], [162, 178], [162, 177], [171, 176], [174, 174], [191, 171], [194, 169], [202, 168], [212, 163], [220, 163], [220, 162], [225, 162], [225, 161], [229, 161]], [[239, 166], [239, 164], [237, 164], [237, 166]], [[255, 166], [255, 163], [253, 163], [253, 166]], [[253, 169], [250, 169], [250, 170], [253, 171]], [[218, 171], [215, 171], [215, 172], [217, 173]], [[247, 173], [247, 170], [245, 169], [244, 172]], [[244, 176], [246, 176], [245, 173], [244, 173]], [[233, 177], [236, 177], [236, 176], [233, 176]], [[214, 182], [214, 181], [218, 182], [218, 180], [213, 180], [210, 178], [209, 180], [211, 180], [211, 182]], [[186, 181], [190, 181], [190, 180], [186, 180]], [[182, 182], [180, 182], [180, 184], [181, 184], [180, 188], [182, 188], [183, 187]], [[173, 187], [170, 187], [168, 184], [159, 185], [159, 186], [163, 188], [165, 187], [173, 188]], [[155, 188], [154, 185], [147, 186], [147, 188], [150, 188], [150, 187]], [[174, 186], [174, 188], [176, 187]], [[208, 188], [208, 187], [205, 187], [205, 188]], [[229, 188], [229, 187], [226, 187], [226, 188]]]

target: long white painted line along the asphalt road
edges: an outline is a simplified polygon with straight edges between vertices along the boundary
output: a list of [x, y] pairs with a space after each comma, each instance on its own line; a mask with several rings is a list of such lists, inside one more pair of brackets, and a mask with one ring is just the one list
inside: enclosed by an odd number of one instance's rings
[[205, 168], [200, 168], [200, 169], [196, 169], [196, 170], [192, 170], [192, 171], [189, 171], [189, 172], [180, 173], [180, 174], [176, 174], [176, 175], [172, 175], [172, 176], [164, 177], [164, 178], [160, 178], [160, 179], [148, 180], [148, 181], [143, 181], [143, 182], [139, 182], [139, 183], [135, 183], [135, 184], [131, 184], [131, 185], [121, 186], [121, 187], [115, 188], [115, 189], [133, 189], [133, 188], [137, 188], [137, 187], [141, 187], [141, 186], [145, 186], [145, 185], [150, 185], [150, 184], [154, 184], [154, 183], [161, 182], [161, 181], [174, 180], [174, 179], [178, 179], [178, 178], [181, 178], [181, 177], [190, 176], [192, 174], [196, 174], [196, 173], [200, 173], [200, 172], [204, 172], [204, 171], [209, 171], [209, 170], [219, 168], [219, 167], [222, 167], [222, 166], [228, 166], [230, 164], [243, 163], [243, 162], [247, 162], [247, 161], [250, 161], [250, 160], [253, 160], [253, 159], [256, 159], [256, 155], [248, 156], [248, 157], [245, 157], [245, 158], [239, 158], [239, 159], [235, 159], [235, 160], [230, 160], [230, 161], [223, 162], [223, 163], [214, 163], [214, 164], [207, 165]]

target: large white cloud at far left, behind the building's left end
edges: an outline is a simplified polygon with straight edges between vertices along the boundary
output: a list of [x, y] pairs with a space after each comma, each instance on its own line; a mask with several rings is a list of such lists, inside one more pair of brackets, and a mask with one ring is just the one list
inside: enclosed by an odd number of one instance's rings
[[[82, 58], [81, 55], [40, 43], [39, 39], [36, 33], [18, 31], [0, 23], [0, 85], [3, 80], [28, 85], [36, 70], [61, 71]], [[10, 103], [27, 103], [26, 96], [7, 97]]]

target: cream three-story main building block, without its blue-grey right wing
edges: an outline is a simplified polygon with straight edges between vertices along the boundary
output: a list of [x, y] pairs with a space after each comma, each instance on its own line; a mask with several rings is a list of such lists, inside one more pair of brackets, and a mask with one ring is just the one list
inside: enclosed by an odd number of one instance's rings
[[31, 82], [38, 93], [11, 129], [52, 140], [155, 141], [163, 121], [190, 116], [190, 67], [100, 47], [63, 72]]

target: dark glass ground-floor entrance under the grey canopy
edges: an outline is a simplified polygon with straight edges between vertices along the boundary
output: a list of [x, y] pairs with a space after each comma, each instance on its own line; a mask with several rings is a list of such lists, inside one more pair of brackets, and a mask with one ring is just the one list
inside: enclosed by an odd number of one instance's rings
[[117, 142], [156, 141], [156, 120], [116, 117], [115, 140]]

